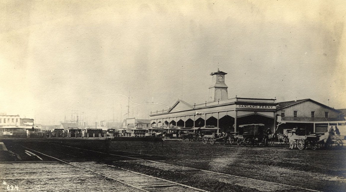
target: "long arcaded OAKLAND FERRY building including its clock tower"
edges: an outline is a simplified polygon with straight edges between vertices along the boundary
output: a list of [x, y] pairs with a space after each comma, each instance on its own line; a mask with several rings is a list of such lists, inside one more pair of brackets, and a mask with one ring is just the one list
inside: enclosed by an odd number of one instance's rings
[[228, 98], [225, 75], [211, 73], [209, 102], [189, 104], [178, 100], [169, 110], [151, 112], [151, 128], [174, 130], [215, 130], [237, 132], [239, 125], [264, 124], [272, 132], [276, 127], [276, 99]]

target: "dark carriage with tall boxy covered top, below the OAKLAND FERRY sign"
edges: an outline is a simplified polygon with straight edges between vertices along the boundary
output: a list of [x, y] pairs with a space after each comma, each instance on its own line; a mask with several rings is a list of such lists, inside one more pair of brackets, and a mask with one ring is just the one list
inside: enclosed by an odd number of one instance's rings
[[262, 144], [269, 144], [271, 138], [268, 137], [264, 129], [264, 124], [239, 125], [239, 136], [242, 135], [244, 137], [243, 143], [240, 142], [239, 145], [259, 146]]

